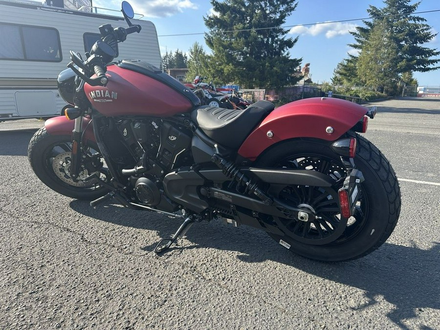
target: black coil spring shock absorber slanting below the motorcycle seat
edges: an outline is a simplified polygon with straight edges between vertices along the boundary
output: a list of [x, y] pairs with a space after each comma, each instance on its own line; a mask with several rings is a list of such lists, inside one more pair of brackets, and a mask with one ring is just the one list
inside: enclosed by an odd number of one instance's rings
[[240, 171], [237, 166], [232, 161], [227, 161], [222, 158], [219, 154], [213, 154], [211, 157], [211, 161], [215, 163], [223, 172], [223, 174], [229, 177], [232, 180], [235, 180], [239, 183], [239, 185], [244, 186], [244, 191], [248, 195], [255, 195], [260, 198], [265, 205], [272, 204], [273, 200], [269, 196], [267, 196], [263, 190], [258, 187], [257, 181], [252, 181], [247, 176]]

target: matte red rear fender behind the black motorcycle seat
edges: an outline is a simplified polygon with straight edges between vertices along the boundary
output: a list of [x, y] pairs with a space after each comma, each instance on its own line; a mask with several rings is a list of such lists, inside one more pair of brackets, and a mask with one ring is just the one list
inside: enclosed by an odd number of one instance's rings
[[[334, 141], [350, 130], [367, 110], [349, 101], [325, 97], [287, 103], [269, 113], [244, 140], [238, 154], [253, 161], [271, 145], [295, 137]], [[326, 132], [329, 126], [332, 133]], [[267, 136], [269, 131], [272, 137]]]

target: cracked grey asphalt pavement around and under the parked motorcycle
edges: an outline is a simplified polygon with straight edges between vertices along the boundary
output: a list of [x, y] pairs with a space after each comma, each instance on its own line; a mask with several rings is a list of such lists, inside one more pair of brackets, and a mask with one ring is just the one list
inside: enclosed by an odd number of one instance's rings
[[334, 264], [216, 221], [157, 256], [178, 220], [51, 191], [27, 161], [43, 122], [0, 123], [0, 329], [440, 329], [440, 100], [376, 105], [365, 136], [404, 179], [400, 219]]

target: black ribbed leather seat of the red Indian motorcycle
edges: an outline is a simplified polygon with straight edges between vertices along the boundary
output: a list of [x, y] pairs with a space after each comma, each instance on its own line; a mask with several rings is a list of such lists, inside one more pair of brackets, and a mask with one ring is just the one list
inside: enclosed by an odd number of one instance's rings
[[244, 110], [203, 106], [191, 113], [191, 119], [220, 145], [237, 149], [274, 108], [267, 101], [258, 101]]

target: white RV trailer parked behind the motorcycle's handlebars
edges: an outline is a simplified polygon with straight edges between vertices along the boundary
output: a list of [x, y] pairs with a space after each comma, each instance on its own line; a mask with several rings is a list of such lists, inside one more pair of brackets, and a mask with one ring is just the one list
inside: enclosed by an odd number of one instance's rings
[[[99, 38], [98, 27], [108, 23], [128, 27], [122, 15], [0, 0], [0, 121], [59, 115], [66, 102], [58, 94], [56, 79], [70, 61], [69, 50], [89, 51]], [[154, 24], [132, 23], [142, 30], [118, 44], [115, 61], [135, 58], [160, 67]]]

